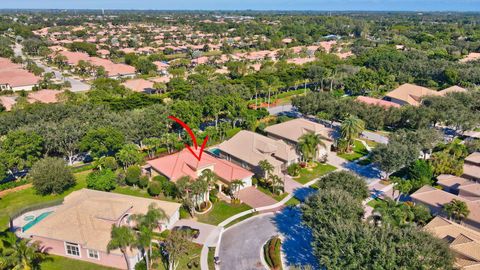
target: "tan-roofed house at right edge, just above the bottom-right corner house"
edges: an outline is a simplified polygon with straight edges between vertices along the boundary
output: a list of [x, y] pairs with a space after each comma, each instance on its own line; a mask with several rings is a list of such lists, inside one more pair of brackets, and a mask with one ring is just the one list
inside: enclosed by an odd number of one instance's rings
[[467, 204], [467, 207], [470, 210], [470, 214], [463, 221], [464, 225], [476, 231], [480, 231], [480, 200], [478, 199], [480, 197], [475, 197], [471, 194], [478, 193], [480, 184], [474, 183], [453, 186], [459, 190], [458, 195], [425, 185], [415, 191], [411, 195], [411, 198], [414, 203], [424, 204], [430, 208], [432, 214], [440, 216], [446, 216], [446, 213], [443, 211], [443, 206], [446, 203], [451, 202], [453, 199], [463, 201]]

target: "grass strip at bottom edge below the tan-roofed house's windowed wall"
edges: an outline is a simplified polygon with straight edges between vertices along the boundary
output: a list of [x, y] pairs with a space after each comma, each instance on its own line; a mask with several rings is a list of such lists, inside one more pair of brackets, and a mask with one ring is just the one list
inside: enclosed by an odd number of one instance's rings
[[69, 259], [62, 256], [49, 255], [48, 260], [40, 264], [40, 269], [42, 270], [64, 270], [64, 269], [110, 270], [115, 268], [101, 266], [98, 264], [84, 262], [81, 260]]

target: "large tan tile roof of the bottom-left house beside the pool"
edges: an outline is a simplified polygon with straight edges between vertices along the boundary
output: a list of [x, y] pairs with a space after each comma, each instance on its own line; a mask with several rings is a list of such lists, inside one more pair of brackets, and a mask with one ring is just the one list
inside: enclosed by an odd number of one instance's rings
[[[180, 208], [180, 204], [173, 202], [81, 189], [65, 197], [54, 213], [27, 233], [106, 252], [112, 224], [126, 213], [146, 213], [152, 203], [169, 217]], [[119, 250], [112, 252], [121, 254]]]

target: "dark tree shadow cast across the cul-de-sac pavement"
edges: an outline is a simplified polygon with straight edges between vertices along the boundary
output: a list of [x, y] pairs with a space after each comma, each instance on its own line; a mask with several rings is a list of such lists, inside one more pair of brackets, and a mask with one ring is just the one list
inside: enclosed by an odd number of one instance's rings
[[272, 218], [277, 230], [285, 237], [282, 251], [286, 265], [310, 265], [313, 269], [321, 269], [313, 255], [311, 246], [312, 233], [302, 224], [299, 207], [286, 207]]

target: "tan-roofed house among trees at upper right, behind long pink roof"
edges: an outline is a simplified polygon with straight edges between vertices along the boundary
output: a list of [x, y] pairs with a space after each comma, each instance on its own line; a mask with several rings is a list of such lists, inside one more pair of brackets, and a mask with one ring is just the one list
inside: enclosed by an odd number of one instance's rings
[[405, 83], [390, 91], [383, 98], [399, 105], [419, 106], [426, 96], [439, 96], [439, 92], [423, 86]]

